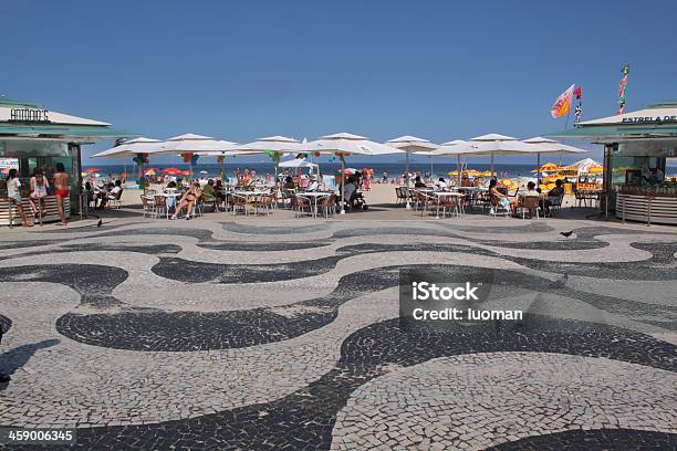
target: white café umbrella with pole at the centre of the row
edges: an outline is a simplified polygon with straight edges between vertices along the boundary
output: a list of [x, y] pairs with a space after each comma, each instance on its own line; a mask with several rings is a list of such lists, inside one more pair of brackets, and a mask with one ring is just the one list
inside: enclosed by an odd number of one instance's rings
[[[338, 154], [341, 159], [341, 174], [344, 177], [345, 156], [355, 155], [387, 155], [399, 154], [404, 150], [396, 149], [385, 144], [368, 140], [364, 136], [353, 135], [350, 133], [337, 133], [334, 135], [321, 136], [320, 139], [310, 141], [303, 145], [308, 151], [319, 151], [322, 154]], [[345, 213], [344, 209], [345, 180], [341, 182], [341, 213]]]

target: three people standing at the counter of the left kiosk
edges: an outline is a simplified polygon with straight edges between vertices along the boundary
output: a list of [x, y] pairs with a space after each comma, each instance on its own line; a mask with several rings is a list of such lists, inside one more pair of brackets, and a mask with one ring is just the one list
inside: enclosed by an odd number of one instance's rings
[[[67, 226], [64, 201], [70, 195], [69, 175], [65, 171], [65, 167], [62, 162], [58, 162], [54, 169], [53, 191], [56, 199], [56, 211], [61, 220], [58, 226]], [[11, 204], [17, 208], [17, 212], [21, 218], [21, 224], [23, 227], [33, 227], [33, 224], [29, 221], [25, 211], [23, 210], [21, 188], [22, 183], [19, 178], [19, 171], [17, 169], [10, 169], [7, 176], [7, 196]], [[50, 181], [45, 177], [44, 171], [42, 168], [35, 168], [33, 170], [33, 175], [29, 178], [29, 204], [34, 220], [40, 220], [46, 216], [44, 199], [49, 196], [50, 190]]]

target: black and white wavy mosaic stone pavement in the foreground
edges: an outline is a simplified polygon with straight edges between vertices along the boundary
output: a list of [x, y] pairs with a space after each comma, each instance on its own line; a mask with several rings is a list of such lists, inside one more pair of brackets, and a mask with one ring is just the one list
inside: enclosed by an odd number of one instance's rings
[[[77, 428], [63, 449], [677, 449], [674, 229], [228, 217], [8, 239], [0, 427]], [[405, 332], [405, 268], [499, 271], [528, 321]]]

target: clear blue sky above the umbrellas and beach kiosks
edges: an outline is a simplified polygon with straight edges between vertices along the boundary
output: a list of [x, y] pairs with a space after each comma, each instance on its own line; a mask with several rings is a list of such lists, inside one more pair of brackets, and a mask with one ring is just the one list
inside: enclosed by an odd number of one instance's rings
[[24, 0], [0, 15], [0, 93], [155, 138], [527, 138], [563, 129], [549, 108], [571, 83], [584, 118], [614, 114], [625, 62], [628, 109], [677, 97], [675, 1]]

